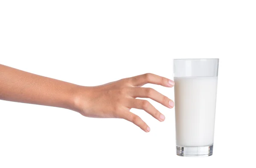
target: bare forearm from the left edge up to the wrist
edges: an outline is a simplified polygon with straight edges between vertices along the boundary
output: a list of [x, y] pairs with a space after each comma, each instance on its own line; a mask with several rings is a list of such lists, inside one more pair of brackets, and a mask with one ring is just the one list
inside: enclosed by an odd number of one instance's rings
[[0, 64], [0, 99], [75, 110], [79, 86]]

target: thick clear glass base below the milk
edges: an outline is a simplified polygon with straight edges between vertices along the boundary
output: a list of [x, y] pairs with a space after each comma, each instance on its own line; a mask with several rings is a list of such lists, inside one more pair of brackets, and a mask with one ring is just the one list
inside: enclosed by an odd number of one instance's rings
[[212, 156], [212, 145], [207, 146], [176, 146], [176, 154], [186, 157]]

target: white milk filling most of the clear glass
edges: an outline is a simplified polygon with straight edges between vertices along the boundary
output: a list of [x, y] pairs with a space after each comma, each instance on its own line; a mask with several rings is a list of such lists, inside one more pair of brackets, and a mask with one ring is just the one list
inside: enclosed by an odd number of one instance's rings
[[213, 144], [218, 77], [175, 77], [177, 146]]

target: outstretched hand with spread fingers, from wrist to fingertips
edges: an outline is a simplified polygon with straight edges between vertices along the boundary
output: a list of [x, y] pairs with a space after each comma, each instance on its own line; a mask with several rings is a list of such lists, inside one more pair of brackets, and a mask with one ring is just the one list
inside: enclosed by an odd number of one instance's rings
[[145, 110], [160, 122], [165, 120], [165, 116], [147, 100], [135, 98], [151, 98], [169, 108], [174, 107], [174, 102], [154, 89], [141, 87], [147, 83], [174, 86], [174, 81], [151, 73], [96, 87], [79, 86], [74, 98], [74, 108], [87, 117], [126, 119], [149, 132], [148, 125], [139, 116], [131, 113], [131, 108]]

